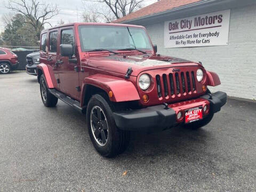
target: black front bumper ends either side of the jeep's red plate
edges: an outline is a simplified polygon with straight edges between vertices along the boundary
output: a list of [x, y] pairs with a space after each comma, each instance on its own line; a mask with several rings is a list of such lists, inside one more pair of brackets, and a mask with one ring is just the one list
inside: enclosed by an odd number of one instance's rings
[[[209, 113], [216, 113], [225, 105], [227, 94], [218, 91], [210, 95], [203, 95], [201, 98], [210, 102]], [[164, 105], [115, 112], [114, 118], [119, 129], [128, 131], [164, 130], [179, 124], [175, 111], [172, 108], [164, 109]]]

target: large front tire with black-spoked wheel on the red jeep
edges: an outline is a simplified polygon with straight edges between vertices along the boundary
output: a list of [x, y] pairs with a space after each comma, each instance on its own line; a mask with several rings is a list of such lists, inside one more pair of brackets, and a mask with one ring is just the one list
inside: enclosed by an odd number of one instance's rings
[[130, 132], [116, 127], [109, 102], [104, 94], [93, 95], [87, 106], [86, 117], [94, 148], [102, 156], [114, 157], [127, 148]]

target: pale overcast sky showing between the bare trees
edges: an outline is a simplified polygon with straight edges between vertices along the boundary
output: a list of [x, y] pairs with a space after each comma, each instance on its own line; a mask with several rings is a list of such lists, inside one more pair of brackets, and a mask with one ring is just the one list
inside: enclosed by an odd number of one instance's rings
[[[155, 3], [156, 1], [157, 0], [145, 0], [145, 6]], [[4, 2], [0, 3], [0, 32], [2, 32], [4, 30], [2, 16], [11, 11], [5, 7], [7, 0], [0, 0], [0, 2]], [[90, 4], [85, 4], [83, 0], [42, 0], [42, 2], [45, 4], [57, 4], [58, 6], [59, 14], [50, 20], [52, 26], [58, 25], [60, 20], [65, 23], [82, 21], [82, 13], [87, 9], [87, 6], [90, 6]]]

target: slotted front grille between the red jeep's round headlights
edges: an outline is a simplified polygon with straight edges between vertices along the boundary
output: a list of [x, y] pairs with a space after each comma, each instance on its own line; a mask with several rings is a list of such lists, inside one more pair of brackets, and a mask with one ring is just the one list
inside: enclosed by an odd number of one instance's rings
[[191, 94], [196, 90], [195, 73], [186, 71], [156, 75], [156, 85], [158, 98]]

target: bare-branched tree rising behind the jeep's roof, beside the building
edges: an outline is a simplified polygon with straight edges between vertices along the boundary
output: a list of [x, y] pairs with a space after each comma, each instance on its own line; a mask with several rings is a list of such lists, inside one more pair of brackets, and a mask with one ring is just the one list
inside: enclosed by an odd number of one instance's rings
[[[102, 5], [105, 5], [108, 9], [108, 12], [106, 14], [105, 9], [101, 9], [98, 14], [101, 14], [103, 18], [110, 21], [113, 19], [119, 19], [122, 17], [125, 17], [127, 14], [130, 14], [142, 7], [143, 2], [146, 0], [83, 0], [87, 2], [94, 2], [94, 3], [101, 3]], [[111, 13], [114, 15], [112, 17], [108, 13]]]

